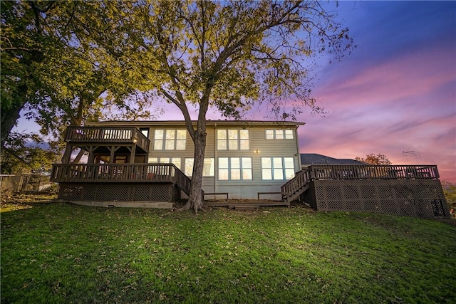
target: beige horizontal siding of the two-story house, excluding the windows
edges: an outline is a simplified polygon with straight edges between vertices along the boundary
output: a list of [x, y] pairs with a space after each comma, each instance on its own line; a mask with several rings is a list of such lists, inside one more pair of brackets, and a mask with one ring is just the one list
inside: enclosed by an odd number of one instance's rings
[[[98, 122], [94, 125], [113, 125]], [[185, 172], [185, 159], [194, 157], [195, 145], [187, 132], [185, 150], [155, 150], [155, 130], [185, 130], [184, 122], [128, 122], [135, 127], [149, 127], [149, 158], [179, 157], [180, 169]], [[211, 121], [207, 124], [205, 158], [214, 158], [214, 176], [203, 177], [202, 189], [207, 193], [229, 193], [229, 199], [257, 199], [258, 192], [280, 192], [287, 179], [263, 180], [261, 176], [261, 157], [292, 157], [294, 172], [301, 169], [299, 142], [296, 122], [227, 122]], [[217, 150], [217, 130], [249, 130], [249, 150]], [[292, 130], [293, 139], [266, 140], [266, 130]], [[219, 180], [220, 157], [252, 158], [252, 179]], [[185, 194], [182, 198], [185, 199]], [[210, 198], [208, 196], [207, 198]], [[280, 194], [264, 196], [267, 199], [281, 199]]]

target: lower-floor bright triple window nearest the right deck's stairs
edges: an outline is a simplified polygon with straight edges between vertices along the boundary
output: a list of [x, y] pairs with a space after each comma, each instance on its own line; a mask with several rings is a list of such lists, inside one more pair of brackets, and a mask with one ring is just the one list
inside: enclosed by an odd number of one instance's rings
[[261, 157], [261, 176], [263, 180], [292, 179], [293, 157]]

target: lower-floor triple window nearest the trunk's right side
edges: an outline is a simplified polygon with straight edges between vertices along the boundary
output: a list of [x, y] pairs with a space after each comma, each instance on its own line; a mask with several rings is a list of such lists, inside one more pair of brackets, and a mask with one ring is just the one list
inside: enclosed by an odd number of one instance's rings
[[251, 157], [219, 157], [219, 180], [252, 179]]

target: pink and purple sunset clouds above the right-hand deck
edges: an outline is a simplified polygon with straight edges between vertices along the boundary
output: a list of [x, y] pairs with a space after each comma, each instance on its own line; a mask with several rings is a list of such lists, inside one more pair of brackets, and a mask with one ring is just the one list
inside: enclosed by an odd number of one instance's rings
[[435, 47], [323, 83], [317, 92], [329, 112], [304, 115], [301, 150], [338, 158], [374, 152], [393, 164], [437, 164], [442, 179], [456, 182], [456, 65], [447, 58], [454, 53]]

